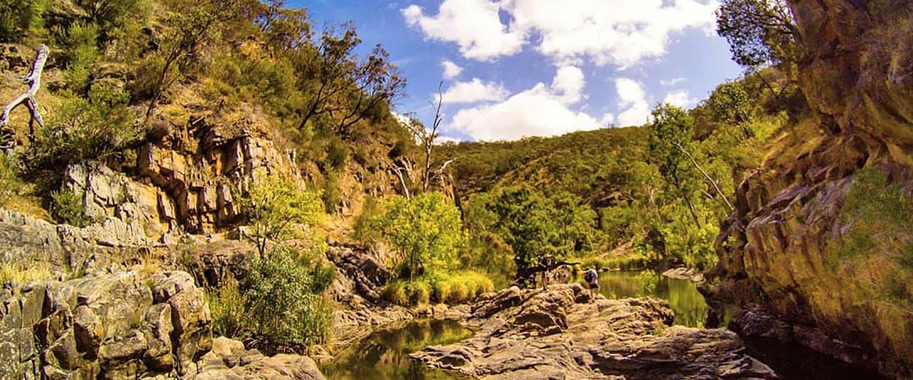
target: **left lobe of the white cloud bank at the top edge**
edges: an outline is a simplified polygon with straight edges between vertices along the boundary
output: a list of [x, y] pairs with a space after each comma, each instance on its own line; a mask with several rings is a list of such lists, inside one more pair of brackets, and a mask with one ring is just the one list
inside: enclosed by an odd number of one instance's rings
[[426, 38], [456, 43], [463, 56], [488, 61], [519, 53], [525, 39], [501, 24], [499, 9], [488, 0], [445, 0], [434, 16], [418, 5], [402, 13], [406, 24], [421, 29]]

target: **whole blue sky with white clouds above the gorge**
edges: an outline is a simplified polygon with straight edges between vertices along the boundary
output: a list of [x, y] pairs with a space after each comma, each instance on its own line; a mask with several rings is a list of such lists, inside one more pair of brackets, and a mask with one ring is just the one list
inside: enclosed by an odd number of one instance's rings
[[[289, 0], [318, 27], [352, 21], [408, 81], [396, 112], [445, 139], [495, 140], [640, 125], [659, 102], [692, 107], [738, 77], [713, 0]], [[445, 73], [445, 64], [450, 67]], [[458, 67], [458, 68], [457, 68]], [[449, 75], [446, 75], [449, 74]]]

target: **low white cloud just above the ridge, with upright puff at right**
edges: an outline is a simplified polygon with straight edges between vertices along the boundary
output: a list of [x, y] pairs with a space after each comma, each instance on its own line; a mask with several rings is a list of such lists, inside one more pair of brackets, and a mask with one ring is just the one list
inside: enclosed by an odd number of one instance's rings
[[555, 136], [611, 123], [614, 120], [611, 114], [597, 119], [568, 107], [572, 98], [580, 97], [584, 82], [582, 72], [578, 77], [577, 71], [561, 67], [551, 86], [538, 83], [503, 102], [461, 109], [447, 128], [473, 139], [498, 140]]

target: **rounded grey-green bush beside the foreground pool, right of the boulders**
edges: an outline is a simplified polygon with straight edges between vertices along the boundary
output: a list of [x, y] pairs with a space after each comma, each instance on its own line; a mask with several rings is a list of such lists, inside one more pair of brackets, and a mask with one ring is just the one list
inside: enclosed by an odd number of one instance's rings
[[312, 292], [310, 269], [301, 265], [294, 251], [280, 246], [253, 262], [244, 285], [258, 336], [285, 346], [321, 344], [331, 338], [331, 304]]

